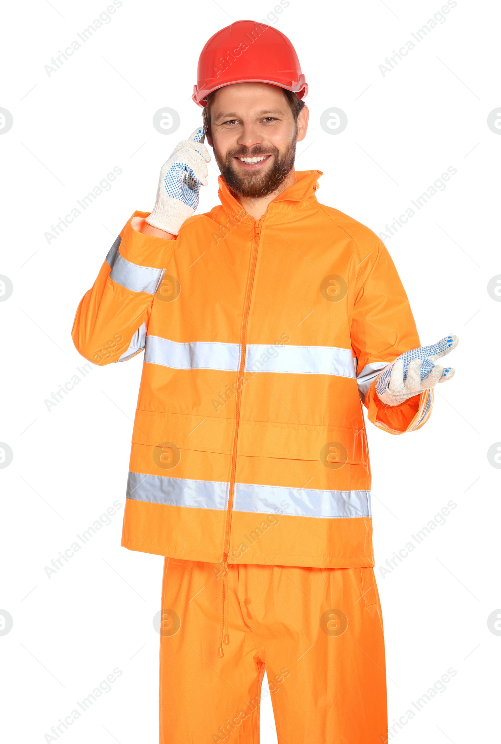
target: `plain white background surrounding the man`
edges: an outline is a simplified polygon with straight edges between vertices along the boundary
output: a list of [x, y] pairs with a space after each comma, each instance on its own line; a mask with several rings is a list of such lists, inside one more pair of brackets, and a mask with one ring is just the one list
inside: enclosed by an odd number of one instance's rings
[[[124, 0], [49, 77], [44, 65], [106, 4], [28, 0], [4, 8], [0, 106], [13, 127], [0, 135], [0, 274], [13, 282], [13, 295], [0, 303], [0, 440], [13, 462], [0, 470], [0, 608], [13, 629], [0, 636], [0, 699], [9, 743], [43, 742], [115, 667], [123, 673], [112, 690], [61, 738], [158, 740], [152, 620], [162, 557], [120, 547], [122, 507], [56, 575], [44, 571], [113, 501], [124, 504], [141, 355], [93, 368], [50, 411], [44, 401], [84, 361], [71, 324], [115, 235], [135, 209], [153, 207], [159, 168], [201, 123], [191, 92], [202, 45], [234, 20], [264, 19], [273, 5]], [[501, 104], [499, 4], [458, 0], [395, 69], [379, 70], [441, 4], [290, 0], [269, 22], [293, 41], [310, 85], [310, 129], [296, 168], [324, 172], [319, 201], [379, 232], [447, 167], [457, 169], [386, 240], [421, 342], [459, 336], [447, 360], [456, 376], [441, 386], [423, 429], [392, 437], [369, 424], [368, 438], [389, 722], [453, 667], [446, 690], [395, 738], [460, 744], [499, 737], [501, 637], [487, 624], [501, 607], [501, 472], [487, 459], [501, 440], [501, 303], [487, 292], [501, 274], [501, 136], [487, 126]], [[162, 106], [179, 112], [172, 135], [153, 129]], [[331, 106], [348, 115], [339, 135], [319, 126]], [[123, 173], [111, 190], [48, 244], [45, 231], [113, 166]], [[200, 211], [217, 202], [214, 158], [209, 177]], [[378, 567], [451, 499], [457, 506], [446, 523], [382, 577]], [[261, 740], [275, 743], [269, 696], [262, 716]]]

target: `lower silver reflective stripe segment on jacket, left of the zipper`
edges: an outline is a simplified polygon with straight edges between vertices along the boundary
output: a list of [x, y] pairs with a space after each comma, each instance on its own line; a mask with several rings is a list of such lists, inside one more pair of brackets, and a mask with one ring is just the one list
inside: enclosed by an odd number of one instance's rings
[[225, 510], [228, 493], [229, 483], [221, 481], [191, 481], [141, 472], [130, 472], [127, 481], [127, 498], [175, 507]]

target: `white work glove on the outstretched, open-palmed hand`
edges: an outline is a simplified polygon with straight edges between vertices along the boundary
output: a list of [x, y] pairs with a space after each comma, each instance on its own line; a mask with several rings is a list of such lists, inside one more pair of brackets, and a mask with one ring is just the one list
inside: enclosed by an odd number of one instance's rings
[[399, 405], [428, 388], [434, 388], [437, 382], [450, 379], [455, 370], [433, 362], [450, 353], [458, 343], [457, 336], [445, 336], [433, 346], [420, 346], [401, 354], [377, 377], [377, 397], [385, 405]]

